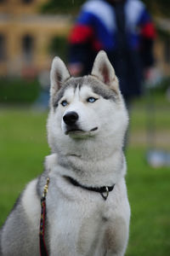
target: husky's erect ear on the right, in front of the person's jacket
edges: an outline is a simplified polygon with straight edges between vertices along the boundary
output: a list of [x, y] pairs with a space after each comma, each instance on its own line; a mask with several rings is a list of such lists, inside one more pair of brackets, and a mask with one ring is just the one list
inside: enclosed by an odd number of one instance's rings
[[115, 70], [104, 50], [100, 50], [99, 54], [96, 56], [91, 74], [104, 84], [109, 85], [111, 89], [118, 90], [118, 80]]

